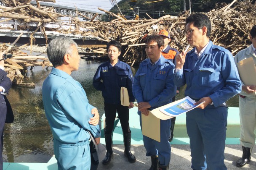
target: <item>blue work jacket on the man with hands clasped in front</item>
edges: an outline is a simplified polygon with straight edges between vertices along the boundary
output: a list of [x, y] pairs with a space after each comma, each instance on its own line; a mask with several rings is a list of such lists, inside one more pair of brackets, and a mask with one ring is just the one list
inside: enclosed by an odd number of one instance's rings
[[174, 64], [163, 55], [153, 66], [150, 59], [142, 61], [133, 84], [133, 95], [137, 102], [149, 102], [149, 110], [171, 103], [176, 94], [174, 68]]

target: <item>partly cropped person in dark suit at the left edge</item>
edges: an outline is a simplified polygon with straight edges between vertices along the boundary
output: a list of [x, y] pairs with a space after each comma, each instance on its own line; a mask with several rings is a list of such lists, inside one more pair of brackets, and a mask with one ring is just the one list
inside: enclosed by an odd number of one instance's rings
[[[0, 52], [0, 59], [3, 58], [3, 53]], [[3, 130], [5, 126], [6, 119], [6, 102], [4, 96], [8, 94], [9, 89], [11, 88], [12, 82], [9, 77], [7, 77], [7, 73], [4, 71], [4, 60], [0, 61], [0, 170], [3, 170]]]

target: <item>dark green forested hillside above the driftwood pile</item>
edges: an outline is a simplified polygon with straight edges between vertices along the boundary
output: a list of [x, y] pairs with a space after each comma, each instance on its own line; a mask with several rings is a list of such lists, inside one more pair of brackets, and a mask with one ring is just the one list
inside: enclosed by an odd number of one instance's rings
[[[189, 0], [121, 0], [117, 5], [119, 6], [123, 15], [133, 16], [130, 8], [133, 8], [137, 13], [139, 7], [139, 17], [149, 18], [146, 13], [152, 18], [160, 18], [164, 15], [178, 16], [184, 11], [184, 2], [186, 1], [186, 10], [189, 10]], [[227, 5], [233, 0], [190, 0], [191, 12], [209, 12], [216, 7], [216, 3], [223, 3]], [[153, 3], [154, 2], [154, 3]], [[117, 6], [111, 10], [113, 13], [120, 13]]]

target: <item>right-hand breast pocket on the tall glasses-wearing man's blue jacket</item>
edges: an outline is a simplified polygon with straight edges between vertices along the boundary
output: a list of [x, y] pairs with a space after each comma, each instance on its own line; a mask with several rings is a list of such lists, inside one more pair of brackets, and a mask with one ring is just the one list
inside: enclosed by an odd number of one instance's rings
[[216, 85], [216, 80], [219, 80], [219, 77], [214, 68], [199, 68], [199, 85], [205, 87], [213, 87]]

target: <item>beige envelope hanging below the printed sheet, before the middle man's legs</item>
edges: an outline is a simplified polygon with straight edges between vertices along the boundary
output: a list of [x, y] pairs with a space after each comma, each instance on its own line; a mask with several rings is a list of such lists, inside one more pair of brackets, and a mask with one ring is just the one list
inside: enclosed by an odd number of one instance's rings
[[160, 142], [160, 119], [155, 117], [150, 111], [149, 115], [141, 114], [142, 134], [155, 141]]

